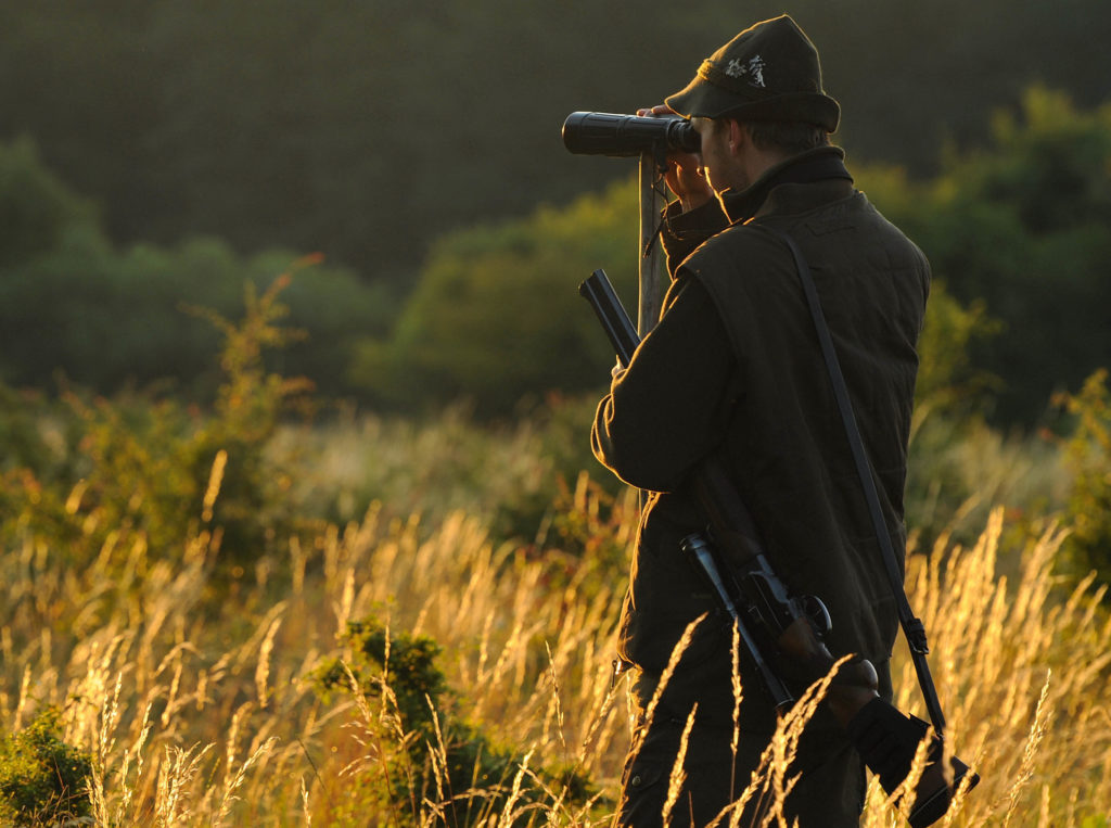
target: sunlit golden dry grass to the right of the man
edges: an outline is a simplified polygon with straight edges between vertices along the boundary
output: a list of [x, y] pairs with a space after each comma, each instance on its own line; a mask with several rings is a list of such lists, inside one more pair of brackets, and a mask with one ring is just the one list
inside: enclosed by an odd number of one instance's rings
[[[1020, 551], [1017, 582], [1000, 577], [1003, 510], [979, 542], [911, 557], [912, 605], [931, 631], [949, 742], [983, 781], [947, 825], [1103, 826], [1111, 818], [1111, 619], [1105, 587], [1064, 591], [1053, 560], [1063, 530]], [[922, 716], [909, 658], [897, 701]], [[898, 676], [898, 672], [897, 672]], [[889, 825], [872, 785], [867, 826]]]

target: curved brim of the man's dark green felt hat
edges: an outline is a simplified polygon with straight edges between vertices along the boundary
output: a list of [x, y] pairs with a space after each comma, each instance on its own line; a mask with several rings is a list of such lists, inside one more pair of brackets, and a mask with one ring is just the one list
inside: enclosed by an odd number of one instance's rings
[[664, 99], [664, 103], [683, 118], [729, 116], [749, 121], [813, 123], [827, 132], [835, 132], [841, 120], [841, 106], [821, 92], [785, 92], [744, 100], [700, 76]]

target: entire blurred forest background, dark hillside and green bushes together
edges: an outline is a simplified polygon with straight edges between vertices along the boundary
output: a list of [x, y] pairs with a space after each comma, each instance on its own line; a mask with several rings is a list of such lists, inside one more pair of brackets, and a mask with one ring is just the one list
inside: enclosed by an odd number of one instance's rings
[[[279, 359], [323, 392], [504, 415], [594, 387], [609, 356], [574, 288], [597, 267], [631, 285], [637, 194], [630, 162], [567, 153], [562, 120], [659, 101], [782, 11], [10, 0], [0, 380], [210, 392], [218, 336], [182, 305], [234, 315], [300, 260], [286, 300], [309, 337]], [[858, 183], [979, 313], [988, 412], [1038, 422], [1111, 349], [1107, 3], [791, 13]]]

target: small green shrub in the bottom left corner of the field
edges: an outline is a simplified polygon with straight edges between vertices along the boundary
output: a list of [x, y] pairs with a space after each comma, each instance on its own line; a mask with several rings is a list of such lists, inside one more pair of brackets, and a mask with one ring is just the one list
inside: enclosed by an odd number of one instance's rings
[[47, 708], [0, 741], [0, 822], [61, 825], [89, 816], [91, 756], [61, 739], [59, 712]]

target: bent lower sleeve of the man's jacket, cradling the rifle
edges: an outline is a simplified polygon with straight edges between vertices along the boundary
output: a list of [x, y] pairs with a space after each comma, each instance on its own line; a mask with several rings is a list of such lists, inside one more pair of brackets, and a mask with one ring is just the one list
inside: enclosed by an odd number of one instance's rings
[[691, 279], [599, 403], [594, 457], [631, 486], [672, 491], [723, 441], [739, 388], [724, 325]]

